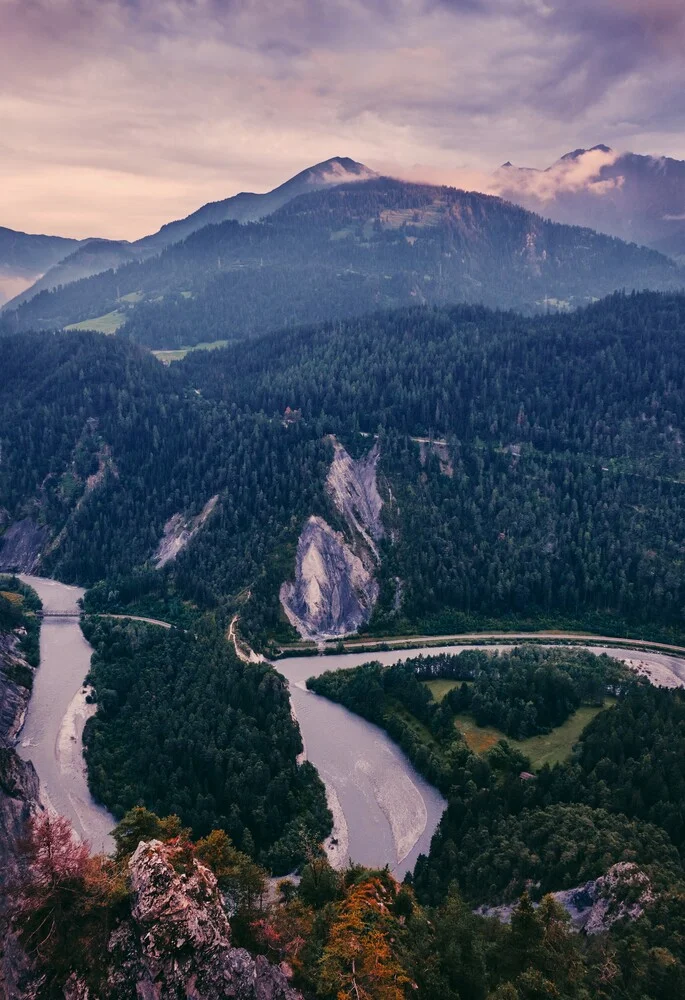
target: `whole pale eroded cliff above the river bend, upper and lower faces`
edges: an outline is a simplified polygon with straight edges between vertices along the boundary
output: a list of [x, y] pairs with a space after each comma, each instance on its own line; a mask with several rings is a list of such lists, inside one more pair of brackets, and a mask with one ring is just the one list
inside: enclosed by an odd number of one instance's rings
[[322, 517], [310, 517], [297, 546], [295, 580], [284, 583], [281, 604], [303, 639], [320, 642], [350, 635], [371, 617], [378, 600], [377, 542], [383, 537], [376, 466], [378, 444], [354, 460], [333, 441], [326, 490], [346, 534]]

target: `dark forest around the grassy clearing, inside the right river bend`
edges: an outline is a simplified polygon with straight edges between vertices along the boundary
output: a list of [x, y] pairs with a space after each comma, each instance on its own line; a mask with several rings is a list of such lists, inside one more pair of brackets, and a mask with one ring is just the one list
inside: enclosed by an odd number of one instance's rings
[[[439, 701], [437, 678], [453, 682]], [[682, 879], [682, 691], [656, 689], [606, 656], [530, 647], [369, 663], [307, 683], [383, 726], [444, 790], [448, 808], [410, 879], [424, 902], [441, 902], [455, 882], [473, 905], [524, 889], [540, 898], [627, 860], [653, 866], [665, 886]], [[531, 774], [521, 737], [563, 725], [581, 702], [604, 710], [567, 759]], [[512, 741], [476, 753], [462, 735], [468, 715]]]

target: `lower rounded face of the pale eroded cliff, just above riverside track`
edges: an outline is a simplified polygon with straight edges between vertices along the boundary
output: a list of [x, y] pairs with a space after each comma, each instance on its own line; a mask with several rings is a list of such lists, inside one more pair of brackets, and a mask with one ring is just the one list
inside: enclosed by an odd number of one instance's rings
[[369, 620], [378, 583], [340, 532], [310, 517], [297, 545], [295, 580], [281, 586], [280, 598], [304, 639], [333, 639]]

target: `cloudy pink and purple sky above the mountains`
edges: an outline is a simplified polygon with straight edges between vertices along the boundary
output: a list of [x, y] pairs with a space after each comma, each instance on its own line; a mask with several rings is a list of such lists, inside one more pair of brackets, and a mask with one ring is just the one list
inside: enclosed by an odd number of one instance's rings
[[136, 239], [328, 157], [685, 159], [685, 0], [0, 0], [0, 226]]

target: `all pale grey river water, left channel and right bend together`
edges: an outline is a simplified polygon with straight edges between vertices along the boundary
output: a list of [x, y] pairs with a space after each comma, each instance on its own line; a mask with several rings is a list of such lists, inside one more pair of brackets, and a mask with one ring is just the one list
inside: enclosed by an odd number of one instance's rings
[[[54, 580], [22, 576], [38, 593], [46, 611], [74, 608], [83, 590]], [[317, 767], [335, 816], [335, 843], [327, 849], [333, 863], [348, 859], [370, 866], [389, 865], [398, 877], [427, 853], [445, 802], [414, 769], [402, 751], [376, 726], [306, 689], [306, 680], [326, 670], [355, 667], [370, 659], [390, 664], [421, 653], [456, 653], [459, 646], [344, 653], [280, 660], [276, 669], [290, 685], [308, 759]], [[473, 647], [469, 647], [473, 648]], [[492, 647], [489, 647], [492, 648]], [[632, 649], [590, 647], [625, 659], [657, 684], [682, 686], [685, 661]], [[41, 795], [74, 825], [96, 851], [113, 847], [114, 819], [88, 790], [82, 734], [92, 706], [85, 703], [83, 681], [91, 646], [78, 618], [46, 618], [40, 635], [41, 664], [20, 736], [19, 753], [32, 760]]]

